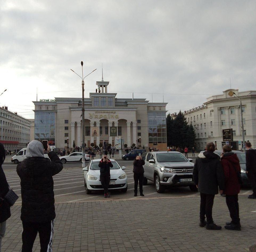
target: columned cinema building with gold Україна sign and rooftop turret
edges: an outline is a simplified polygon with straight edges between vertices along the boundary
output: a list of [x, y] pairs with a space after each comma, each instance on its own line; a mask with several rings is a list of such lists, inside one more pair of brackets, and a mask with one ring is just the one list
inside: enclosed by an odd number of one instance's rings
[[[97, 93], [84, 99], [85, 144], [104, 142], [115, 146], [117, 138], [138, 148], [166, 150], [166, 104], [146, 99], [119, 99], [108, 93], [109, 82], [97, 81]], [[82, 99], [55, 98], [35, 104], [35, 139], [58, 148], [82, 145]]]

